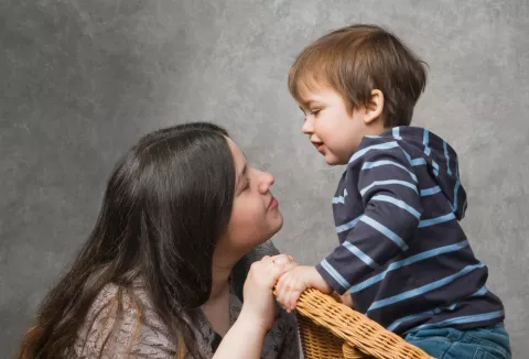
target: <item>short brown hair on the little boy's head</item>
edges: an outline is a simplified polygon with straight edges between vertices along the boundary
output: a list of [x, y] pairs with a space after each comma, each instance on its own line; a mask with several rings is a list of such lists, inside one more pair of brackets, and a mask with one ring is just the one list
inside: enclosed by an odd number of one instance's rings
[[333, 31], [305, 47], [289, 73], [289, 90], [298, 102], [303, 91], [328, 85], [349, 111], [367, 106], [371, 90], [384, 94], [386, 128], [408, 126], [427, 85], [425, 63], [396, 35], [376, 25]]

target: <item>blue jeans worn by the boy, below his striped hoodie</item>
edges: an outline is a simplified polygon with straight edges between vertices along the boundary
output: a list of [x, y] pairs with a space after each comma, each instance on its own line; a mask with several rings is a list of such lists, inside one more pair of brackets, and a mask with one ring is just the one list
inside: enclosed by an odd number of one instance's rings
[[503, 324], [469, 330], [423, 329], [404, 339], [439, 359], [510, 359], [509, 335]]

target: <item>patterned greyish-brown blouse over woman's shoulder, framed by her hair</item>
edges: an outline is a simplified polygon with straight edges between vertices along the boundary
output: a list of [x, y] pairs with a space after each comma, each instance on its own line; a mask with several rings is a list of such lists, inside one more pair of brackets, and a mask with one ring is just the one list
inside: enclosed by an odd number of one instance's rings
[[105, 285], [88, 309], [74, 346], [82, 358], [174, 358], [175, 347], [140, 282]]

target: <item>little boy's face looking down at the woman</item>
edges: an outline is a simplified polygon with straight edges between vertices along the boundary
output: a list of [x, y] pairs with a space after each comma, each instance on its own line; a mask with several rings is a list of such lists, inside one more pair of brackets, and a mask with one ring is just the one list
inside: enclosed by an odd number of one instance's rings
[[302, 131], [327, 164], [346, 164], [358, 149], [361, 139], [373, 134], [365, 122], [367, 111], [359, 108], [350, 112], [336, 90], [331, 87], [306, 89], [300, 108], [305, 116]]

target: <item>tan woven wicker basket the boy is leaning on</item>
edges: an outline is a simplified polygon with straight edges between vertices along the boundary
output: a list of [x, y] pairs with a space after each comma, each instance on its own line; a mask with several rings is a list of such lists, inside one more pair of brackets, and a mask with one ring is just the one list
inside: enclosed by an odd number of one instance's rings
[[305, 359], [432, 358], [335, 297], [313, 289], [301, 295], [296, 316]]

